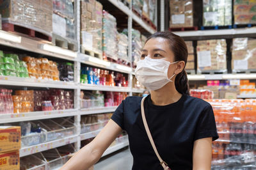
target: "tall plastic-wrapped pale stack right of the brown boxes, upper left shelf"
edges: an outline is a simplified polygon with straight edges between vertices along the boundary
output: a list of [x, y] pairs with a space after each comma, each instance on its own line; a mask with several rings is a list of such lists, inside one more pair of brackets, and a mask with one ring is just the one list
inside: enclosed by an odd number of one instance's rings
[[102, 50], [103, 58], [118, 59], [116, 18], [103, 10]]

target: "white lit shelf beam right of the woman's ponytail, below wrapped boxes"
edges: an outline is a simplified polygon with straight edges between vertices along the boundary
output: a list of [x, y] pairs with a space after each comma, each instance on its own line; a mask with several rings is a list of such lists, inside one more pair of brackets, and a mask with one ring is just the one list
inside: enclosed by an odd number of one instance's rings
[[195, 74], [188, 75], [189, 81], [256, 79], [256, 73], [225, 73], [225, 74]]

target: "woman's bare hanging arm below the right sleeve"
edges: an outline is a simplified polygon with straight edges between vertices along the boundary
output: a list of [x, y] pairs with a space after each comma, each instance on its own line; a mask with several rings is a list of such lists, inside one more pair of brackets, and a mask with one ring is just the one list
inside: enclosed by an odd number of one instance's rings
[[211, 170], [212, 137], [198, 139], [193, 148], [193, 170]]

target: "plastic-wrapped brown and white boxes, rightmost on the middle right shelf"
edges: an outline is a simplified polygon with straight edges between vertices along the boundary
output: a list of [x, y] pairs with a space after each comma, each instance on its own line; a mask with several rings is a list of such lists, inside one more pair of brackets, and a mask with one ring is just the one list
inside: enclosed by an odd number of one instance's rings
[[232, 47], [233, 72], [256, 69], [256, 39], [234, 38]]

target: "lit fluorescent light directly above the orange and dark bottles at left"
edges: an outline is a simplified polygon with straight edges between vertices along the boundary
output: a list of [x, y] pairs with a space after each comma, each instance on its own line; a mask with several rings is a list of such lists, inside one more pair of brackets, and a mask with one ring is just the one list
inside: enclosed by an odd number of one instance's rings
[[64, 56], [70, 56], [72, 58], [76, 58], [76, 56], [77, 56], [77, 53], [73, 52], [72, 50], [62, 49], [61, 47], [56, 47], [54, 45], [40, 44], [39, 48], [42, 50], [47, 50], [49, 52], [54, 52], [54, 53], [61, 54]]

